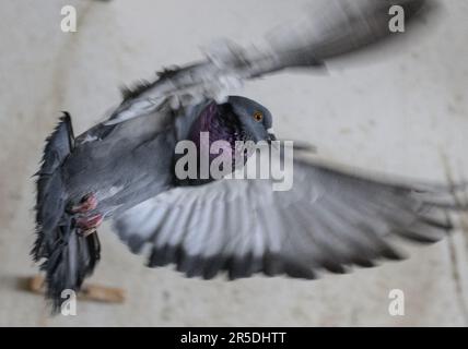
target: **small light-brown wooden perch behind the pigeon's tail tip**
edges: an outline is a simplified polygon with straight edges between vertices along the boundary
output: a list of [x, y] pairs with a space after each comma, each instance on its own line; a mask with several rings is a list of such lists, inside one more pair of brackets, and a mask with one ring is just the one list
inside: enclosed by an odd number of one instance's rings
[[[28, 278], [27, 289], [34, 293], [45, 293], [44, 277], [36, 275]], [[81, 291], [78, 292], [78, 299], [83, 301], [96, 301], [105, 303], [124, 303], [125, 290], [115, 287], [106, 287], [101, 285], [83, 285]]]

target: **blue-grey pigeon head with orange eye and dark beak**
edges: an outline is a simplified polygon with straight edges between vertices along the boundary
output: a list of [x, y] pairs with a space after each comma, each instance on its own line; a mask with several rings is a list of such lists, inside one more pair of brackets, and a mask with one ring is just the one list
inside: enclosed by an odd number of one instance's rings
[[230, 96], [224, 107], [231, 109], [244, 136], [254, 142], [274, 141], [271, 112], [255, 100]]

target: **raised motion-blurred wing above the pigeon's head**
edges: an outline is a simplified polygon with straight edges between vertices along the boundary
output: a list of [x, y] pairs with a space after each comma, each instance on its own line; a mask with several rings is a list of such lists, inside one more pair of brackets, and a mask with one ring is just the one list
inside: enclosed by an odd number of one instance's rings
[[127, 91], [124, 103], [105, 124], [149, 115], [167, 100], [174, 107], [195, 105], [207, 98], [219, 100], [245, 80], [283, 69], [321, 65], [330, 58], [390, 37], [391, 5], [400, 5], [408, 22], [428, 8], [426, 2], [327, 1], [323, 12], [270, 32], [266, 45], [241, 47], [227, 40], [219, 41], [208, 49], [204, 61], [166, 70], [157, 80]]

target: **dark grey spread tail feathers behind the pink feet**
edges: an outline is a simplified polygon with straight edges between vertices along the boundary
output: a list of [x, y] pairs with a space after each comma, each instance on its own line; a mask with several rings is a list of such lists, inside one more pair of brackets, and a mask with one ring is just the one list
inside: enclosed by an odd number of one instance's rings
[[61, 166], [74, 146], [69, 113], [65, 112], [47, 139], [37, 178], [36, 241], [31, 252], [46, 272], [46, 297], [57, 312], [65, 289], [78, 291], [100, 260], [97, 233], [79, 233], [67, 212], [67, 192]]

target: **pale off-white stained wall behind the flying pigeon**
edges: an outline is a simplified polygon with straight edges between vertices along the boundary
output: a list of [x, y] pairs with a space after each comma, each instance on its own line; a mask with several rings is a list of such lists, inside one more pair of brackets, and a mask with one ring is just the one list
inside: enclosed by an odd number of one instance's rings
[[[0, 325], [460, 325], [468, 324], [468, 229], [412, 257], [318, 281], [256, 277], [185, 279], [148, 269], [106, 225], [93, 282], [120, 286], [122, 305], [79, 303], [78, 316], [49, 318], [40, 297], [21, 290], [34, 275], [31, 174], [60, 110], [75, 133], [119, 101], [118, 86], [199, 58], [199, 45], [245, 43], [292, 21], [309, 1], [0, 2]], [[78, 33], [60, 31], [60, 9], [78, 10]], [[283, 137], [314, 143], [321, 157], [411, 178], [468, 177], [468, 3], [446, 1], [428, 35], [401, 52], [329, 74], [281, 74], [244, 94], [268, 106]], [[461, 219], [463, 222], [463, 219]], [[406, 315], [388, 314], [388, 292]]]

